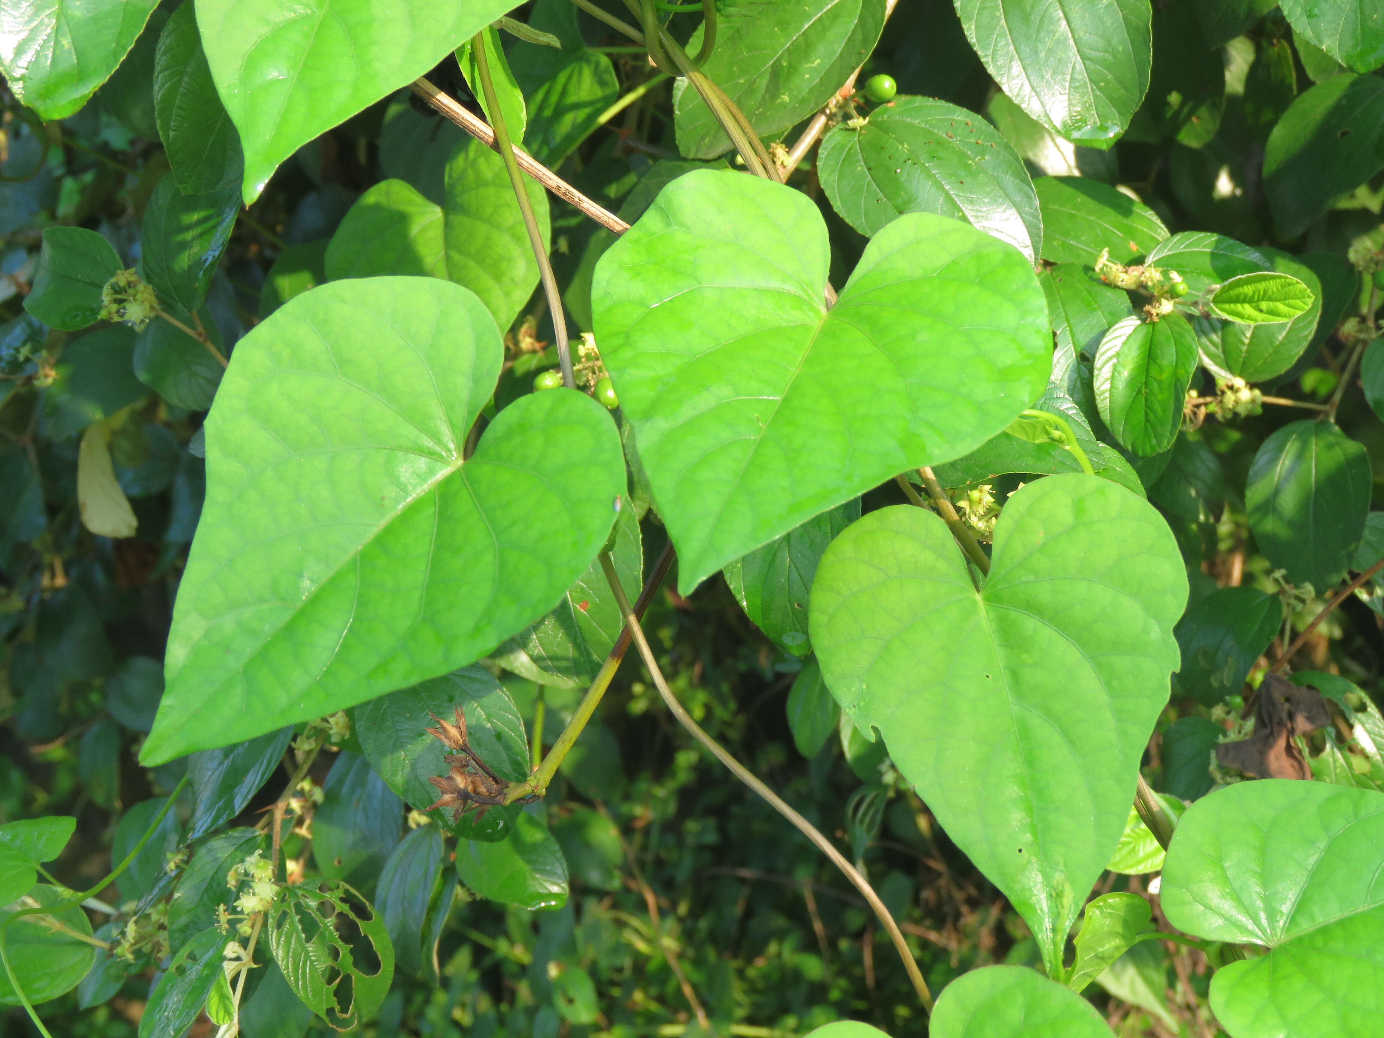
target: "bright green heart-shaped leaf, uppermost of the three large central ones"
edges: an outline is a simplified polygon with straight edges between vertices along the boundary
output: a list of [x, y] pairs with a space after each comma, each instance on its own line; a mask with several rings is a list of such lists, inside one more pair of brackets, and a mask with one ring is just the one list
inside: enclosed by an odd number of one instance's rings
[[597, 339], [684, 594], [894, 473], [980, 446], [1046, 383], [1048, 309], [1013, 246], [908, 213], [830, 310], [828, 260], [800, 191], [699, 170], [597, 266]]

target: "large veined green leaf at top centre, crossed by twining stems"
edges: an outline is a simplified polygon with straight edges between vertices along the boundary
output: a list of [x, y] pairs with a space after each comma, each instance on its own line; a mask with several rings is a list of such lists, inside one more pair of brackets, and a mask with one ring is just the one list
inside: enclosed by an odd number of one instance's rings
[[[702, 72], [721, 87], [764, 138], [812, 115], [873, 50], [884, 0], [729, 0], [717, 11], [717, 43]], [[696, 55], [702, 29], [688, 40]], [[700, 95], [678, 82], [678, 151], [714, 159], [731, 147]]]

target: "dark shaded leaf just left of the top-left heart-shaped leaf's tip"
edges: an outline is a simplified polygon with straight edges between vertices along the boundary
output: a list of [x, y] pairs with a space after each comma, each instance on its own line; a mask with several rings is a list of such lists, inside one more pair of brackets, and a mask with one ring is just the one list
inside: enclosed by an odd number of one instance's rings
[[184, 195], [172, 174], [159, 181], [144, 208], [140, 274], [161, 306], [191, 314], [202, 304], [239, 210], [234, 185]]

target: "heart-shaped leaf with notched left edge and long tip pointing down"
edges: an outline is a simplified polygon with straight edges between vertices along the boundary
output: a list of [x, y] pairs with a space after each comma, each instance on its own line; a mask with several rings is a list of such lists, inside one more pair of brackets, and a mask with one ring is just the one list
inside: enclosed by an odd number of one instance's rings
[[1010, 495], [978, 591], [941, 519], [902, 505], [846, 530], [817, 570], [828, 688], [879, 728], [1055, 976], [1124, 832], [1186, 594], [1161, 516], [1085, 475]]

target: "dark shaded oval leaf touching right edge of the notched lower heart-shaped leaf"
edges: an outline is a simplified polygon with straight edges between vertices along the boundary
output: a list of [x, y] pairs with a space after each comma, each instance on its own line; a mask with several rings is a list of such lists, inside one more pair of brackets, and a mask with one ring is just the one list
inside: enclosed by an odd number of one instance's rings
[[1253, 587], [1212, 591], [1178, 621], [1178, 688], [1203, 706], [1239, 695], [1250, 667], [1282, 624], [1283, 605], [1276, 595]]

